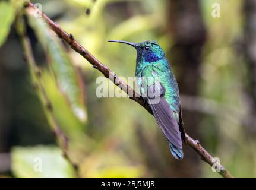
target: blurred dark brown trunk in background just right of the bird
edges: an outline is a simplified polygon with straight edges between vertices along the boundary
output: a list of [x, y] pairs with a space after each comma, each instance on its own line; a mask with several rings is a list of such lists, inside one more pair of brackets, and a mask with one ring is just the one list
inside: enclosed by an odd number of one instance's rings
[[[175, 44], [168, 54], [170, 63], [176, 71], [179, 91], [181, 94], [197, 96], [201, 49], [206, 41], [206, 28], [201, 17], [200, 5], [197, 0], [172, 0], [169, 12], [167, 29], [172, 34]], [[183, 110], [185, 131], [197, 138], [199, 118], [198, 113]], [[184, 152], [184, 160], [173, 164], [173, 175], [185, 178], [199, 177], [199, 158], [187, 147], [184, 148]]]

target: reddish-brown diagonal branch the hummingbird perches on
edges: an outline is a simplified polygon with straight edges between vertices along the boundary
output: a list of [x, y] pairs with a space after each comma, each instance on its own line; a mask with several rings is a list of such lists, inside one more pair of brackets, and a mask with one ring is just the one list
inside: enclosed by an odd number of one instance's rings
[[[34, 5], [31, 2], [28, 2], [26, 5], [27, 12], [29, 12], [29, 9], [36, 9]], [[39, 10], [37, 10], [39, 11]], [[46, 23], [49, 24], [49, 26], [52, 28], [53, 31], [55, 31], [56, 34], [58, 34], [59, 37], [61, 37], [65, 42], [67, 42], [72, 49], [74, 49], [77, 53], [79, 53], [81, 56], [83, 56], [88, 62], [90, 62], [91, 65], [98, 71], [102, 72], [102, 74], [109, 78], [116, 86], [121, 88], [125, 93], [129, 95], [129, 98], [134, 100], [135, 102], [139, 103], [141, 106], [143, 106], [149, 113], [152, 114], [152, 111], [150, 107], [146, 104], [144, 104], [144, 101], [142, 97], [138, 95], [128, 84], [124, 83], [120, 78], [116, 76], [116, 74], [111, 71], [108, 66], [102, 64], [98, 59], [96, 59], [91, 53], [89, 53], [83, 46], [80, 45], [80, 43], [77, 42], [77, 40], [74, 39], [74, 36], [72, 34], [68, 34], [65, 30], [61, 29], [57, 23], [50, 20], [49, 17], [47, 17], [42, 12], [42, 17], [45, 19]], [[131, 96], [132, 95], [132, 96]], [[223, 178], [233, 178], [233, 176], [225, 169], [224, 166], [222, 166], [220, 163], [217, 162], [217, 160], [211, 156], [199, 143], [199, 141], [194, 140], [193, 138], [189, 137], [188, 134], [186, 134], [186, 141], [187, 144], [193, 148], [200, 156], [201, 158], [210, 166], [216, 166], [217, 172], [220, 173], [220, 175], [223, 176]]]

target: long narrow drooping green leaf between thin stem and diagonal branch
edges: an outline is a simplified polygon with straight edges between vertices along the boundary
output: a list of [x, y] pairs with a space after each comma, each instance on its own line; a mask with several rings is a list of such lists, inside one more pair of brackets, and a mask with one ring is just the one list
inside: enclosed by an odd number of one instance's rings
[[33, 12], [31, 12], [29, 23], [49, 55], [50, 68], [52, 68], [59, 90], [67, 97], [67, 101], [75, 116], [81, 122], [85, 122], [87, 120], [87, 113], [84, 106], [84, 89], [80, 74], [72, 65], [67, 53], [64, 51], [64, 47], [50, 33], [45, 21], [40, 17], [34, 17]]

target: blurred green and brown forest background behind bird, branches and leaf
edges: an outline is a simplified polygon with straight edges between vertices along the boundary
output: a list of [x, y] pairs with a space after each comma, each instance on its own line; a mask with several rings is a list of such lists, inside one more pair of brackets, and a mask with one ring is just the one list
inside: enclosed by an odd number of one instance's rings
[[[31, 2], [42, 4], [46, 15], [125, 78], [135, 74], [136, 52], [108, 40], [157, 40], [178, 80], [187, 133], [235, 177], [256, 177], [256, 1]], [[214, 3], [219, 18], [212, 16]], [[63, 42], [83, 76], [87, 118], [80, 122], [55, 85], [37, 35], [29, 25], [26, 31], [83, 178], [220, 178], [188, 146], [183, 160], [173, 159], [153, 116], [137, 103], [97, 98], [95, 81], [102, 74]], [[74, 177], [49, 125], [12, 24], [0, 47], [1, 177]], [[42, 159], [42, 172], [34, 170], [36, 158]]]

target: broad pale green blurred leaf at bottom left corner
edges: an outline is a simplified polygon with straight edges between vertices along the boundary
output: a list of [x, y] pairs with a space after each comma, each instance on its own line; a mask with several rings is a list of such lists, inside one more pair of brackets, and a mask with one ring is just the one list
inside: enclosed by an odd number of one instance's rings
[[72, 167], [61, 150], [52, 146], [14, 147], [12, 172], [17, 178], [72, 178]]

